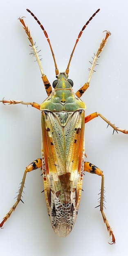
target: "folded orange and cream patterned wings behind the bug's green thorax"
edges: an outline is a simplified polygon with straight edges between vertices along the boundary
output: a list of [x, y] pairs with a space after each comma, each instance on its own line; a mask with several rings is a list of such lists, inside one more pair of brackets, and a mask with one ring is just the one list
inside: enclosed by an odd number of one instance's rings
[[[63, 216], [69, 219], [68, 222], [71, 222], [72, 212], [74, 225], [75, 211], [72, 209], [76, 207], [78, 211], [83, 177], [84, 110], [42, 112], [42, 131], [43, 175], [49, 215], [60, 218], [57, 207], [63, 207]], [[52, 222], [53, 228], [57, 227], [57, 217], [56, 223], [55, 219]]]

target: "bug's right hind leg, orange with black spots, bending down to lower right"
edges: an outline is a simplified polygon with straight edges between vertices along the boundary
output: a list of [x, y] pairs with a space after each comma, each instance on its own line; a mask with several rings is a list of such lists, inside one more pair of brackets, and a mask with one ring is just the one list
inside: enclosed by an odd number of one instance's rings
[[87, 171], [89, 173], [94, 173], [94, 174], [97, 174], [99, 176], [101, 176], [101, 198], [100, 198], [100, 211], [101, 211], [101, 214], [102, 214], [102, 217], [103, 217], [103, 221], [104, 223], [106, 224], [106, 227], [107, 227], [107, 230], [109, 232], [109, 235], [112, 236], [112, 244], [115, 243], [115, 237], [114, 237], [114, 234], [113, 234], [113, 231], [110, 227], [110, 225], [108, 224], [108, 220], [105, 216], [105, 213], [103, 211], [103, 200], [104, 200], [104, 175], [103, 175], [103, 171], [101, 171], [97, 166], [95, 166], [94, 164], [91, 164], [89, 162], [85, 162], [84, 163], [84, 171]]

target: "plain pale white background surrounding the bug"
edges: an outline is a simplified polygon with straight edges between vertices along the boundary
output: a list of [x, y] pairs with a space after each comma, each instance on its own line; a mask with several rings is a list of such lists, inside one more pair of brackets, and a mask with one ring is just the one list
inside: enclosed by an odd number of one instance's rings
[[[104, 30], [112, 35], [99, 58], [90, 88], [82, 100], [86, 115], [101, 112], [112, 123], [128, 129], [128, 3], [126, 0], [1, 0], [0, 7], [0, 99], [36, 101], [47, 97], [27, 36], [18, 17], [26, 16], [49, 81], [55, 78], [52, 54], [29, 8], [49, 35], [58, 69], [67, 67], [74, 43], [88, 18], [101, 8], [85, 29], [74, 52], [69, 78], [77, 91], [88, 79], [91, 56]], [[0, 219], [9, 211], [25, 167], [40, 153], [40, 111], [29, 106], [0, 104]], [[104, 171], [105, 213], [116, 238], [109, 235], [97, 206], [101, 178], [85, 173], [76, 224], [67, 238], [58, 238], [51, 227], [40, 170], [27, 174], [23, 201], [0, 230], [2, 256], [128, 256], [128, 135], [115, 134], [99, 117], [85, 125], [88, 161]]]

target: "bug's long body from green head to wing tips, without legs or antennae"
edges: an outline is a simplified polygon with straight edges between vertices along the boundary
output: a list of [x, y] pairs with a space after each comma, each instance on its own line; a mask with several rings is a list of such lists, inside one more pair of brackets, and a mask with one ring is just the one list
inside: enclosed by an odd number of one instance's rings
[[40, 106], [45, 198], [55, 233], [67, 236], [81, 196], [85, 104], [75, 95], [65, 73], [60, 73], [54, 83], [56, 89]]

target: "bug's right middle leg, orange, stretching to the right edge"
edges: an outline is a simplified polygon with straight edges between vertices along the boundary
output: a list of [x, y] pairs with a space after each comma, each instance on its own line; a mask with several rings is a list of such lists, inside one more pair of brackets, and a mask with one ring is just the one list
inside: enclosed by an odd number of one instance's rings
[[119, 132], [123, 132], [125, 134], [128, 134], [128, 130], [125, 130], [125, 129], [121, 129], [121, 128], [118, 128], [116, 127], [114, 124], [112, 124], [110, 121], [108, 121], [105, 117], [103, 117], [100, 113], [98, 112], [94, 112], [90, 115], [88, 115], [87, 117], [85, 117], [85, 123], [88, 123], [89, 121], [91, 121], [92, 119], [94, 119], [95, 117], [101, 117], [104, 121], [106, 121], [106, 123], [108, 124], [108, 126], [110, 125], [114, 130], [113, 130], [113, 133], [114, 131], [116, 130], [117, 133], [118, 131]]

